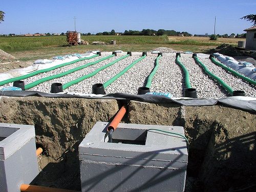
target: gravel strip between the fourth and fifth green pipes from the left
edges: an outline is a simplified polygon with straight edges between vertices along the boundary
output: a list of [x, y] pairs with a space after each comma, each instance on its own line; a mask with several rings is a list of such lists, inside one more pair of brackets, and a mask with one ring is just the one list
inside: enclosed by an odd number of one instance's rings
[[146, 56], [136, 63], [133, 68], [124, 73], [116, 81], [106, 88], [106, 93], [128, 93], [137, 94], [138, 88], [143, 87], [146, 77], [154, 68], [157, 56]]

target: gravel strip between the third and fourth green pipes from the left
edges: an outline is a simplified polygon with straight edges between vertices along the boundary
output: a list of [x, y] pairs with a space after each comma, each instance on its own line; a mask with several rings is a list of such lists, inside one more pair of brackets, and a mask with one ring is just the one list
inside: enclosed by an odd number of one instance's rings
[[[92, 93], [92, 85], [93, 84], [104, 83], [104, 82], [108, 81], [109, 79], [114, 77], [117, 73], [121, 72], [124, 68], [129, 66], [133, 61], [135, 61], [138, 58], [140, 58], [140, 56], [126, 57], [125, 59], [122, 59], [122, 60], [116, 62], [114, 65], [100, 71], [93, 77], [84, 79], [83, 81], [81, 81], [77, 84], [74, 84], [73, 86], [67, 88], [65, 91], [79, 92], [79, 93]], [[130, 82], [129, 80], [127, 80], [127, 81]], [[106, 89], [107, 94], [110, 93], [110, 92], [108, 92], [109, 87]], [[115, 92], [112, 92], [112, 93], [115, 93]]]

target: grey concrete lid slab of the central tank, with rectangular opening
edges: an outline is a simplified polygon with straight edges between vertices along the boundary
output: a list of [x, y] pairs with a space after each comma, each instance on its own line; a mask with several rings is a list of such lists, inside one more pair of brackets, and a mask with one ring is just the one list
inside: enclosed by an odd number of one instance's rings
[[[172, 162], [172, 167], [184, 167], [188, 153], [185, 139], [159, 131], [159, 129], [184, 136], [181, 126], [143, 125], [119, 123], [115, 132], [123, 133], [124, 138], [137, 137], [136, 130], [145, 130], [145, 145], [109, 143], [106, 127], [108, 122], [97, 122], [79, 145], [79, 160], [106, 161], [111, 163], [138, 164], [163, 167]], [[129, 130], [129, 132], [125, 131]], [[131, 131], [132, 130], [132, 131]], [[114, 132], [114, 133], [115, 133]], [[113, 138], [114, 138], [113, 133]], [[130, 133], [130, 134], [129, 134]], [[121, 134], [119, 135], [121, 136]], [[129, 139], [127, 139], [129, 140]]]

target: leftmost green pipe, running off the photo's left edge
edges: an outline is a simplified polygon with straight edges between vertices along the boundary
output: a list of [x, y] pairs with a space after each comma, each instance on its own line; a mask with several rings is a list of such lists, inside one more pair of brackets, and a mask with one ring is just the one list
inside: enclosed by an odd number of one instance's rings
[[4, 84], [9, 83], [9, 82], [14, 82], [14, 81], [19, 81], [19, 80], [27, 79], [29, 77], [38, 75], [40, 73], [46, 73], [46, 72], [55, 70], [57, 68], [61, 68], [61, 67], [64, 67], [64, 66], [71, 65], [71, 64], [73, 64], [75, 62], [86, 60], [86, 59], [91, 59], [91, 58], [94, 58], [94, 57], [97, 57], [97, 56], [99, 56], [99, 55], [93, 55], [91, 57], [84, 57], [84, 58], [76, 59], [76, 60], [73, 60], [73, 61], [70, 61], [70, 62], [65, 62], [65, 63], [62, 63], [60, 65], [48, 68], [48, 69], [41, 69], [41, 70], [38, 70], [38, 71], [35, 71], [35, 72], [32, 72], [32, 73], [29, 73], [27, 75], [22, 75], [22, 76], [19, 76], [19, 77], [13, 77], [13, 78], [10, 78], [10, 79], [6, 79], [6, 80], [3, 80], [3, 81], [0, 81], [0, 86], [3, 86]]

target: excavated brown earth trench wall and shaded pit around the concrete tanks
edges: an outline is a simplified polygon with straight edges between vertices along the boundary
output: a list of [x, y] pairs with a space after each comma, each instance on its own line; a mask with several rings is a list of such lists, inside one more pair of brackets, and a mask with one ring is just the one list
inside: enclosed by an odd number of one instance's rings
[[[78, 145], [97, 121], [110, 121], [120, 105], [116, 100], [1, 97], [0, 122], [35, 125], [36, 144], [45, 151], [38, 158], [41, 172], [34, 184], [80, 190]], [[254, 184], [255, 113], [224, 105], [137, 101], [129, 102], [128, 111], [125, 123], [185, 127], [190, 143], [186, 191]]]

